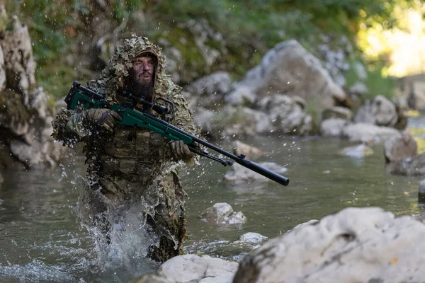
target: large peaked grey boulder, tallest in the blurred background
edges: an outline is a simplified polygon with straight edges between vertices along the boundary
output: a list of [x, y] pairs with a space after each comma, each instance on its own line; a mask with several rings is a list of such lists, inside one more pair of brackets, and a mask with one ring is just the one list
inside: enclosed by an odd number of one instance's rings
[[280, 42], [269, 50], [239, 85], [251, 88], [259, 99], [274, 93], [301, 96], [315, 100], [322, 109], [345, 104], [348, 99], [319, 59], [296, 40]]

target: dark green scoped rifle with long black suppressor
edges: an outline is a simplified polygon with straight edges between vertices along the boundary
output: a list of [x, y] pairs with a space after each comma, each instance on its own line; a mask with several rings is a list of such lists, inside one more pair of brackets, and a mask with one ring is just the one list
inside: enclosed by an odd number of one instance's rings
[[[198, 146], [195, 145], [196, 143], [202, 144], [203, 146], [206, 146], [209, 149], [212, 149], [220, 154], [223, 154], [224, 156], [232, 158], [240, 165], [249, 168], [256, 173], [259, 173], [265, 176], [266, 178], [269, 178], [279, 183], [280, 185], [286, 186], [289, 183], [288, 178], [285, 178], [283, 175], [268, 170], [267, 168], [264, 168], [263, 166], [260, 166], [259, 164], [250, 161], [249, 159], [246, 159], [243, 154], [241, 154], [241, 156], [231, 154], [218, 146], [210, 144], [208, 141], [199, 139], [193, 134], [189, 134], [188, 132], [179, 129], [179, 127], [171, 125], [165, 120], [159, 119], [147, 110], [143, 110], [141, 108], [128, 108], [126, 106], [116, 103], [110, 105], [103, 96], [94, 91], [91, 91], [89, 88], [81, 86], [77, 81], [74, 81], [72, 88], [69, 90], [69, 93], [65, 98], [65, 102], [67, 103], [67, 108], [70, 110], [77, 110], [77, 108], [109, 108], [123, 117], [123, 121], [116, 121], [119, 125], [136, 127], [139, 129], [149, 129], [154, 132], [157, 132], [158, 134], [161, 134], [166, 139], [170, 139], [172, 141], [182, 140], [183, 143], [187, 144], [189, 149], [194, 153], [218, 161], [224, 166], [232, 165], [232, 161], [225, 161], [221, 158], [211, 156], [208, 152], [198, 149]], [[169, 100], [166, 100], [166, 102], [172, 104], [172, 102], [170, 102]], [[154, 109], [154, 106], [157, 106], [160, 110], [164, 110], [163, 106], [152, 105], [152, 103], [149, 103], [149, 105], [151, 106], [151, 109]]]

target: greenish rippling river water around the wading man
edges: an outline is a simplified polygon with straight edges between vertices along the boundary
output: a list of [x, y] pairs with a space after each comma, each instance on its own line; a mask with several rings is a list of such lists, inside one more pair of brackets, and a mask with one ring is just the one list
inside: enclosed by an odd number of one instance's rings
[[[425, 120], [411, 118], [409, 127], [424, 151]], [[244, 142], [271, 152], [261, 161], [288, 168], [288, 187], [277, 183], [220, 182], [227, 171], [219, 163], [182, 172], [188, 193], [188, 253], [241, 260], [246, 250], [230, 244], [246, 232], [274, 238], [310, 219], [346, 207], [382, 207], [396, 215], [418, 214], [421, 177], [385, 173], [382, 146], [365, 157], [340, 156], [353, 144], [322, 137], [263, 137]], [[67, 156], [69, 164], [54, 172], [9, 172], [0, 185], [0, 282], [128, 282], [157, 265], [137, 257], [137, 245], [123, 236], [121, 251], [105, 256], [79, 220], [77, 202], [85, 168], [81, 156]], [[217, 202], [243, 212], [245, 224], [217, 226], [200, 215]], [[127, 235], [128, 236], [128, 235]], [[123, 257], [123, 258], [121, 258]]]

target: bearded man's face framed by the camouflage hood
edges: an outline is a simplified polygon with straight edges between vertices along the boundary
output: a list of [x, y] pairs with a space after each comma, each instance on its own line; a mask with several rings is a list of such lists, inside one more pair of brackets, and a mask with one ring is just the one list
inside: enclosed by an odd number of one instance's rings
[[152, 101], [154, 94], [155, 59], [142, 55], [135, 59], [130, 71], [129, 90], [132, 94]]

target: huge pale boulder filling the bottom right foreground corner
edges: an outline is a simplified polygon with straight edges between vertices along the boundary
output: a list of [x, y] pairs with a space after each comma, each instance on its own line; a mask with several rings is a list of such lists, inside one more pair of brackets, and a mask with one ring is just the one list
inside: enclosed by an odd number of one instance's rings
[[412, 216], [347, 208], [269, 240], [244, 258], [233, 282], [421, 282], [424, 235]]

